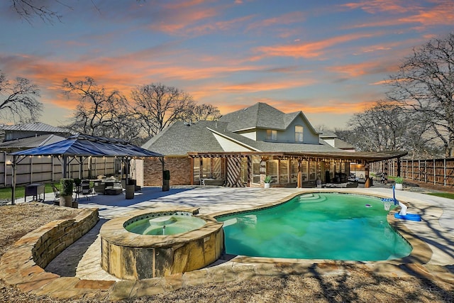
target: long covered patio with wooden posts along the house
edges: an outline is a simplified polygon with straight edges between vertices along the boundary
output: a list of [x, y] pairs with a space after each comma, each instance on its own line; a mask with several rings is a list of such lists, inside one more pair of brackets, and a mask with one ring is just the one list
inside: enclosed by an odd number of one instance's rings
[[191, 184], [221, 180], [227, 187], [262, 187], [265, 176], [272, 177], [274, 187], [308, 187], [317, 180], [346, 182], [351, 163], [364, 166], [365, 187], [370, 187], [370, 163], [399, 159], [406, 154], [403, 151], [188, 153]]

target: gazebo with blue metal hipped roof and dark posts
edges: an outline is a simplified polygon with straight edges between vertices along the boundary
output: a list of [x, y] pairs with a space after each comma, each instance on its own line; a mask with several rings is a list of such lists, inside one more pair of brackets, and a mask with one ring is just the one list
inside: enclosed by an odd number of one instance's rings
[[[68, 159], [79, 158], [80, 169], [82, 170], [82, 163], [88, 157], [118, 157], [122, 162], [126, 162], [126, 179], [129, 174], [129, 162], [132, 158], [145, 158], [157, 157], [162, 162], [164, 167], [164, 155], [155, 153], [150, 150], [145, 150], [137, 145], [133, 145], [122, 139], [95, 137], [84, 134], [70, 136], [64, 141], [52, 143], [38, 148], [31, 148], [28, 150], [21, 150], [11, 153], [13, 156], [13, 184], [11, 194], [11, 204], [15, 202], [16, 194], [16, 165], [27, 156], [41, 155], [41, 156], [60, 156], [59, 160], [62, 161], [62, 175], [67, 177]], [[128, 182], [128, 180], [126, 180]]]

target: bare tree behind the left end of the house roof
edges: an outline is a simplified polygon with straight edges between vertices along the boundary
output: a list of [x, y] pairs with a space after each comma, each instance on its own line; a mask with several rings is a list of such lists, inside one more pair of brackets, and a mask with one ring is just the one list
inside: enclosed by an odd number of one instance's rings
[[154, 136], [175, 121], [187, 118], [195, 106], [192, 97], [164, 84], [145, 84], [131, 91], [134, 111], [148, 136]]

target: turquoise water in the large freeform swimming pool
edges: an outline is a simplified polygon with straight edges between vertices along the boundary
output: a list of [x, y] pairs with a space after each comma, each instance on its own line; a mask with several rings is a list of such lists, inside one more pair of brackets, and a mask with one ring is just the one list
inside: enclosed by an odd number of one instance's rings
[[411, 253], [409, 243], [389, 226], [388, 212], [376, 197], [323, 193], [217, 220], [224, 222], [229, 254], [374, 261]]

